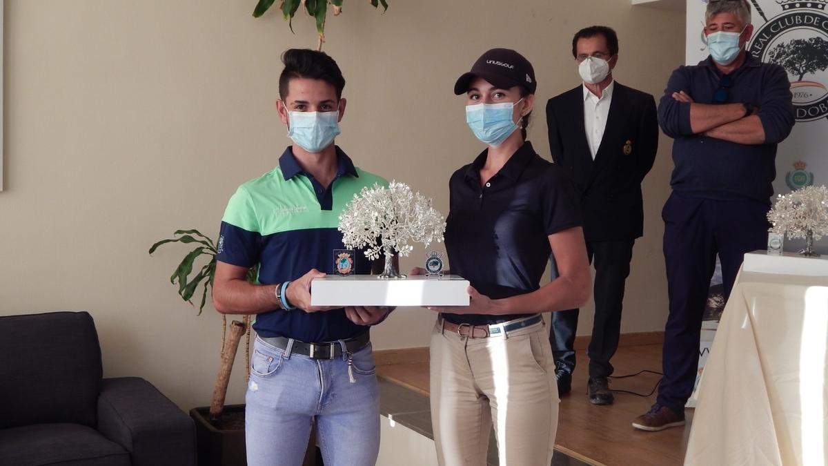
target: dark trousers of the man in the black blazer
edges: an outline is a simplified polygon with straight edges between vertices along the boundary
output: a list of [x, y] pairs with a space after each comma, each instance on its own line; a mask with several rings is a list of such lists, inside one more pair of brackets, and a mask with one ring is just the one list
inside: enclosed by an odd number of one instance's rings
[[[619, 347], [621, 304], [624, 282], [629, 275], [635, 240], [587, 241], [586, 252], [595, 265], [595, 320], [586, 354], [590, 357], [590, 377], [612, 375], [609, 359]], [[575, 331], [578, 309], [552, 313], [549, 342], [555, 365], [570, 374], [575, 370]]]

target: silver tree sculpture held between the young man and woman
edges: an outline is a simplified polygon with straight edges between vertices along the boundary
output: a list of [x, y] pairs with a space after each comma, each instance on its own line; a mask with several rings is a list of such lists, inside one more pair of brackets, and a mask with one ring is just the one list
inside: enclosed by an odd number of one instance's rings
[[414, 249], [411, 243], [430, 245], [441, 242], [445, 233], [445, 218], [431, 206], [431, 199], [412, 192], [407, 184], [392, 181], [388, 187], [374, 184], [363, 187], [345, 206], [339, 216], [342, 242], [349, 248], [365, 250], [370, 260], [385, 255], [385, 269], [381, 279], [401, 279], [393, 257], [407, 256]]

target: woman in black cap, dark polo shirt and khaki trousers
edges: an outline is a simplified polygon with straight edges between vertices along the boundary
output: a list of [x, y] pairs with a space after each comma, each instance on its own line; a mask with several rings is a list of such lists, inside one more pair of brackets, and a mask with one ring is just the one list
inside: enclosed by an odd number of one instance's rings
[[[452, 175], [445, 247], [468, 279], [468, 308], [439, 311], [431, 337], [431, 422], [440, 464], [486, 464], [494, 425], [500, 464], [548, 465], [558, 418], [555, 365], [540, 313], [590, 295], [577, 197], [525, 141], [535, 73], [493, 49], [460, 76], [466, 121], [488, 147]], [[550, 255], [558, 278], [540, 281]], [[505, 462], [505, 463], [504, 463]]]

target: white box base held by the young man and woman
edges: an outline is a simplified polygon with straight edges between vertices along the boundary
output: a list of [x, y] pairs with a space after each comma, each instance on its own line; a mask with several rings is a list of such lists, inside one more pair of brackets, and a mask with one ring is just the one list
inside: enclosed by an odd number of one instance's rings
[[469, 280], [458, 275], [378, 279], [329, 275], [310, 282], [311, 306], [468, 306]]

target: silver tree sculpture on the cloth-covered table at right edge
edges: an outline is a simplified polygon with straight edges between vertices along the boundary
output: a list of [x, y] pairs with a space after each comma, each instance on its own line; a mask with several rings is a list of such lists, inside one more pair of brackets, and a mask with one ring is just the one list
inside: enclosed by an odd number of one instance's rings
[[805, 249], [799, 254], [818, 257], [814, 241], [828, 235], [828, 189], [803, 187], [790, 194], [777, 197], [768, 212], [768, 221], [774, 233], [786, 233], [788, 238], [804, 238]]

